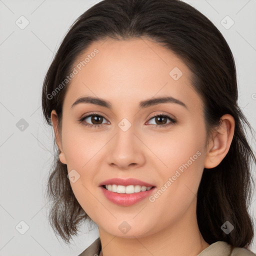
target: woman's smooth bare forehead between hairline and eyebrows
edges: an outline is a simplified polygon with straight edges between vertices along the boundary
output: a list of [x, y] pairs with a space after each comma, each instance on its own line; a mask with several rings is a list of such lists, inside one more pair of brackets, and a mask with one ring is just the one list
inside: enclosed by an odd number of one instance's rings
[[172, 51], [145, 38], [93, 42], [73, 67], [77, 74], [64, 100], [69, 105], [80, 96], [105, 98], [113, 102], [113, 107], [115, 103], [118, 107], [164, 95], [201, 103], [191, 87], [192, 73], [185, 63]]

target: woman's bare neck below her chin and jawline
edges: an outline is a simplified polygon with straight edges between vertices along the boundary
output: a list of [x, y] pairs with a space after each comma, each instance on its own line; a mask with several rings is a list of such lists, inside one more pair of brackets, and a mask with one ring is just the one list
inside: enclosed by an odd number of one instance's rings
[[204, 241], [196, 220], [196, 203], [191, 203], [182, 217], [152, 234], [133, 238], [119, 237], [99, 227], [103, 256], [195, 256], [209, 246]]

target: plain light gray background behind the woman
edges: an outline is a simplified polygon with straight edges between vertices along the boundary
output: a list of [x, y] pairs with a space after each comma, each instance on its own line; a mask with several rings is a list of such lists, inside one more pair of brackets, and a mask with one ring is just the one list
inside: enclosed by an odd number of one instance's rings
[[[98, 1], [96, 1], [98, 2]], [[0, 255], [78, 255], [98, 237], [81, 234], [68, 247], [55, 237], [44, 198], [53, 132], [43, 123], [40, 93], [45, 72], [71, 23], [95, 0], [0, 0]], [[237, 67], [239, 105], [256, 127], [256, 0], [187, 0], [227, 40]], [[29, 24], [20, 29], [23, 15]], [[226, 29], [228, 15], [234, 24]], [[222, 22], [230, 25], [231, 20]], [[20, 21], [19, 21], [20, 22]], [[24, 22], [23, 22], [24, 24]], [[21, 131], [16, 123], [25, 119]], [[252, 144], [252, 140], [250, 140]], [[253, 149], [255, 145], [252, 144]], [[251, 214], [255, 221], [255, 196]], [[23, 220], [29, 229], [15, 228]], [[256, 222], [255, 222], [256, 223]], [[24, 225], [21, 224], [22, 228]], [[20, 228], [19, 230], [21, 230]], [[256, 252], [255, 239], [251, 247]]]

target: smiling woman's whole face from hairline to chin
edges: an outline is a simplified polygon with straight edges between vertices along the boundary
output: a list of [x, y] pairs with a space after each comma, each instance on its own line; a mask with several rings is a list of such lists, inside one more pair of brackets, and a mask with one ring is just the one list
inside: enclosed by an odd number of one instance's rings
[[[195, 216], [206, 130], [188, 67], [149, 40], [107, 39], [91, 44], [74, 68], [59, 146], [84, 211], [100, 230], [122, 237], [153, 234], [187, 213]], [[81, 97], [105, 100], [111, 107], [97, 100], [74, 104]], [[172, 100], [154, 101], [160, 97]], [[105, 196], [104, 180], [130, 177], [154, 187], [126, 195], [110, 191], [112, 200]], [[145, 197], [137, 200], [136, 193]]]

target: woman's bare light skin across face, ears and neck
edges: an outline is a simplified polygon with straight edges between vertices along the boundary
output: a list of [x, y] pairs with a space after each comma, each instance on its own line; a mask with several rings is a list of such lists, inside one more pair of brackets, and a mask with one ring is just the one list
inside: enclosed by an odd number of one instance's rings
[[[192, 73], [161, 45], [145, 38], [108, 38], [91, 44], [80, 59], [95, 48], [99, 52], [67, 88], [61, 127], [57, 127], [55, 110], [51, 119], [61, 162], [67, 164], [68, 172], [75, 169], [80, 175], [70, 184], [84, 211], [98, 225], [103, 255], [197, 255], [209, 246], [197, 225], [197, 189], [203, 168], [215, 167], [228, 152], [234, 119], [223, 115], [219, 133], [206, 137], [202, 100], [189, 80]], [[173, 67], [182, 71], [178, 80], [169, 75]], [[181, 100], [187, 108], [177, 103], [138, 107], [141, 100], [166, 95]], [[88, 103], [71, 107], [80, 96], [108, 100], [112, 109]], [[104, 118], [86, 121], [103, 126], [78, 122], [92, 112]], [[162, 113], [177, 122], [160, 127], [170, 120], [157, 123], [151, 116]], [[118, 127], [123, 118], [131, 123], [125, 132]], [[131, 206], [116, 205], [98, 186], [108, 178], [134, 177], [160, 189], [197, 151], [200, 156], [153, 202], [146, 198]], [[118, 228], [123, 221], [130, 226], [126, 233]]]

